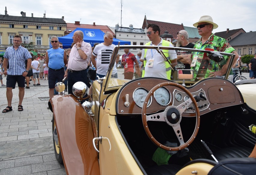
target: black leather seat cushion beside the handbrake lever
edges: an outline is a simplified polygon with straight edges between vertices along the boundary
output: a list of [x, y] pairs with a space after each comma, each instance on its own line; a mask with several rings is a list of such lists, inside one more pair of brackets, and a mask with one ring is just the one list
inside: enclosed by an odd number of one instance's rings
[[[250, 148], [233, 146], [233, 147], [222, 148], [214, 152], [213, 155], [218, 161], [221, 161], [226, 158], [246, 158], [251, 154], [251, 152], [252, 152], [252, 149]], [[208, 156], [207, 158], [212, 160], [211, 156]]]

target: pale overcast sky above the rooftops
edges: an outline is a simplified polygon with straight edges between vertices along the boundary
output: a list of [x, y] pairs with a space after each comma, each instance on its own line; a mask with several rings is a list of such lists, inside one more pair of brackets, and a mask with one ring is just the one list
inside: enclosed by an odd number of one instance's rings
[[[121, 13], [121, 1], [122, 13]], [[114, 27], [116, 24], [134, 28], [142, 28], [146, 15], [148, 20], [181, 24], [193, 27], [203, 15], [210, 15], [218, 28], [213, 32], [222, 32], [227, 29], [243, 28], [245, 32], [256, 31], [256, 1], [255, 0], [93, 0], [93, 1], [67, 1], [67, 0], [26, 0], [4, 1], [1, 0], [0, 14], [21, 16], [26, 12], [27, 17], [61, 18], [64, 16], [66, 23], [107, 25]]]

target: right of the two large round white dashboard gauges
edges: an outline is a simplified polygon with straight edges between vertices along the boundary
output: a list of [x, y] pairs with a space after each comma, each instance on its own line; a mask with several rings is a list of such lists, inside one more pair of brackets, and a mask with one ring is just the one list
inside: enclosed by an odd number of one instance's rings
[[154, 98], [162, 106], [166, 106], [171, 101], [170, 92], [164, 87], [160, 87], [154, 92]]

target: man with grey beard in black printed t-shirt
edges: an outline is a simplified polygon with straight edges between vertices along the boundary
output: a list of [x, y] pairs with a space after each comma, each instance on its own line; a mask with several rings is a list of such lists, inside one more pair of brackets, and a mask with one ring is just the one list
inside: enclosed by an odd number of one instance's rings
[[[188, 42], [188, 33], [185, 30], [181, 30], [177, 33], [176, 47], [194, 48], [194, 44]], [[176, 69], [190, 69], [191, 58], [190, 51], [176, 50], [177, 53], [177, 65]]]

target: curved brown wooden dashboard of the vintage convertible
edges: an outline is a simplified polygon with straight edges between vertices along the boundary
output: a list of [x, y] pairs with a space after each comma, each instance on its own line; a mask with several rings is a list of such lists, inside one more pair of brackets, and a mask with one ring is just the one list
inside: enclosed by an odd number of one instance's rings
[[[147, 93], [160, 83], [169, 82], [165, 79], [141, 78], [126, 83], [117, 96], [117, 113], [123, 115], [141, 114], [143, 99]], [[200, 115], [218, 108], [243, 103], [242, 96], [236, 86], [221, 78], [206, 78], [187, 90], [197, 100]], [[126, 99], [127, 98], [127, 99]], [[156, 113], [170, 105], [182, 105], [188, 95], [176, 86], [164, 86], [157, 89], [148, 102], [147, 113]], [[129, 105], [127, 105], [129, 102]], [[182, 116], [195, 116], [194, 105], [186, 106]]]

